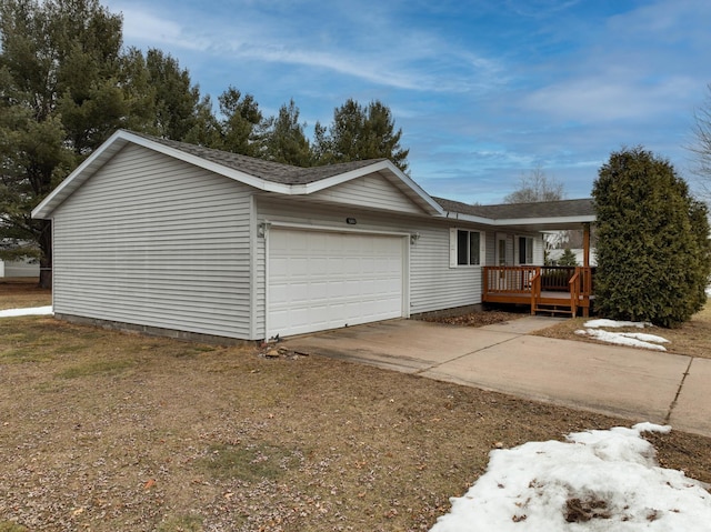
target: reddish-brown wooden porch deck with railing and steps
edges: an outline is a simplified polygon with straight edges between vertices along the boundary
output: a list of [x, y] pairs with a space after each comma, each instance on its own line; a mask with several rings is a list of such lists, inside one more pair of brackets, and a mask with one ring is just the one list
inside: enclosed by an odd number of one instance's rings
[[484, 303], [530, 304], [537, 312], [583, 317], [593, 298], [593, 268], [585, 267], [484, 267]]

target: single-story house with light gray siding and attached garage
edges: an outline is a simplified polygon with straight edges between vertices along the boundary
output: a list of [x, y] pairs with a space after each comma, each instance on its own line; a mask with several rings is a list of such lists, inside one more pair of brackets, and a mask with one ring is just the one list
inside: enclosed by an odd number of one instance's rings
[[467, 205], [384, 159], [297, 168], [120, 130], [32, 215], [52, 220], [58, 318], [261, 340], [481, 304], [487, 268], [542, 265], [541, 231], [594, 220], [557, 203]]

